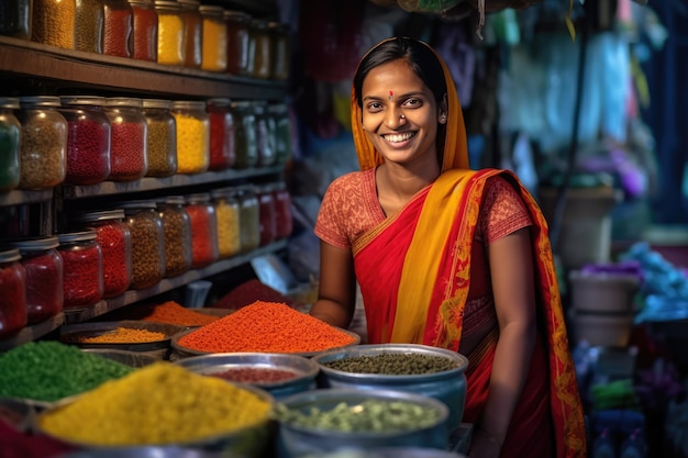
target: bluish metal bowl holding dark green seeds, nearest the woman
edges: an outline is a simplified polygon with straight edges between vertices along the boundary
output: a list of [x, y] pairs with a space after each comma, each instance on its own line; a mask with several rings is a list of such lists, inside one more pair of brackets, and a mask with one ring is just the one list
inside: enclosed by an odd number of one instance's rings
[[[326, 366], [328, 362], [335, 360], [389, 353], [440, 356], [455, 361], [457, 367], [434, 373], [393, 376], [346, 372]], [[318, 383], [322, 388], [387, 389], [429, 395], [444, 402], [450, 407], [448, 425], [451, 429], [460, 425], [466, 403], [467, 381], [465, 371], [468, 367], [468, 358], [456, 351], [414, 344], [358, 345], [324, 351], [314, 356], [313, 360], [320, 366]]]

